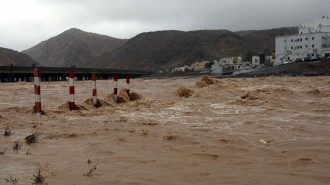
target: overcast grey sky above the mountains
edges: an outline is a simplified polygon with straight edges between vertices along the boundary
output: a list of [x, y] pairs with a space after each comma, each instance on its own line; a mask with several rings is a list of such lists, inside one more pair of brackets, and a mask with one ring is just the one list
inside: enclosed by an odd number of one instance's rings
[[129, 39], [158, 30], [271, 29], [330, 16], [330, 0], [0, 0], [0, 47], [28, 49], [70, 28]]

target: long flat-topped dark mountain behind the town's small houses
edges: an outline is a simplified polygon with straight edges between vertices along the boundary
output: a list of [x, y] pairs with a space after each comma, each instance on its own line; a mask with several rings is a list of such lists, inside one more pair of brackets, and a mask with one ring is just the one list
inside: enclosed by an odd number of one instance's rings
[[297, 27], [240, 32], [201, 30], [141, 33], [122, 47], [105, 52], [98, 66], [157, 71], [201, 60], [242, 56], [248, 51], [272, 51], [275, 49], [276, 36], [296, 33]]

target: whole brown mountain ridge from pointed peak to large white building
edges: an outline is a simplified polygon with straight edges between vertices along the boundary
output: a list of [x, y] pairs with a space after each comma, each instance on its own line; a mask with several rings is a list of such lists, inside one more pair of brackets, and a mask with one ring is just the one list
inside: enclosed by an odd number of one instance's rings
[[238, 32], [168, 30], [123, 40], [72, 28], [23, 52], [42, 66], [158, 71], [197, 61], [244, 56], [248, 51], [272, 51], [276, 36], [297, 33], [298, 27]]

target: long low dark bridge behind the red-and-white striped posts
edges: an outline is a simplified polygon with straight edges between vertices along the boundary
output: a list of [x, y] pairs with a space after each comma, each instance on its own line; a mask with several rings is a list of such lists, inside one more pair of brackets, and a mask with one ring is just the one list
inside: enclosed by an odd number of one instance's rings
[[[130, 76], [136, 78], [150, 75], [151, 71], [106, 69], [106, 68], [65, 68], [65, 67], [38, 67], [42, 81], [65, 81], [69, 77], [69, 70], [74, 70], [77, 80], [90, 80], [95, 73], [98, 80], [111, 79], [115, 74], [118, 78]], [[22, 66], [0, 66], [1, 82], [32, 81], [33, 67]]]

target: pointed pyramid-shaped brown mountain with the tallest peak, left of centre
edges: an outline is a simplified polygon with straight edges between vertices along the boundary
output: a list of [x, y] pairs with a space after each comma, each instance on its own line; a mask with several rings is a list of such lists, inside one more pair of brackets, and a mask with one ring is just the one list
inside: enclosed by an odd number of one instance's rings
[[22, 52], [42, 66], [97, 67], [98, 57], [122, 46], [126, 41], [72, 28]]

